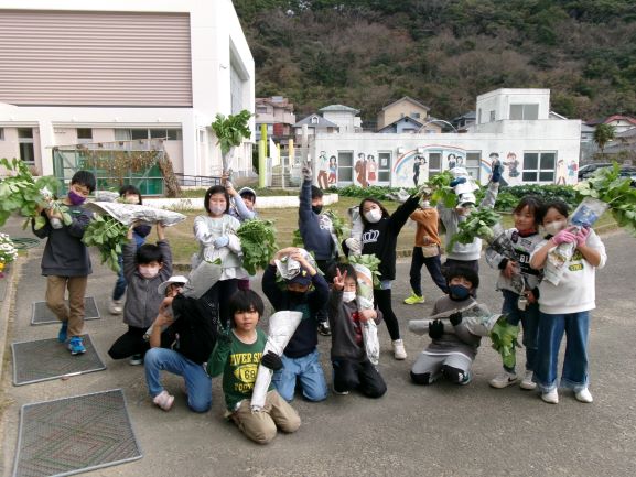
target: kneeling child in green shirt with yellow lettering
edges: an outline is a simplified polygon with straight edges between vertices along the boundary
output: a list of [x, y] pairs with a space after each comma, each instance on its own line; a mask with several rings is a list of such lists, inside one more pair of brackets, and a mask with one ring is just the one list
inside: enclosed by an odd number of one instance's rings
[[259, 444], [267, 444], [276, 437], [277, 427], [291, 433], [300, 426], [295, 410], [271, 384], [262, 411], [251, 411], [250, 400], [258, 366], [263, 365], [272, 370], [282, 368], [277, 354], [262, 354], [267, 335], [257, 325], [263, 307], [262, 300], [254, 291], [237, 291], [229, 300], [231, 329], [228, 334], [219, 335], [207, 362], [209, 376], [214, 378], [223, 373], [227, 418]]

